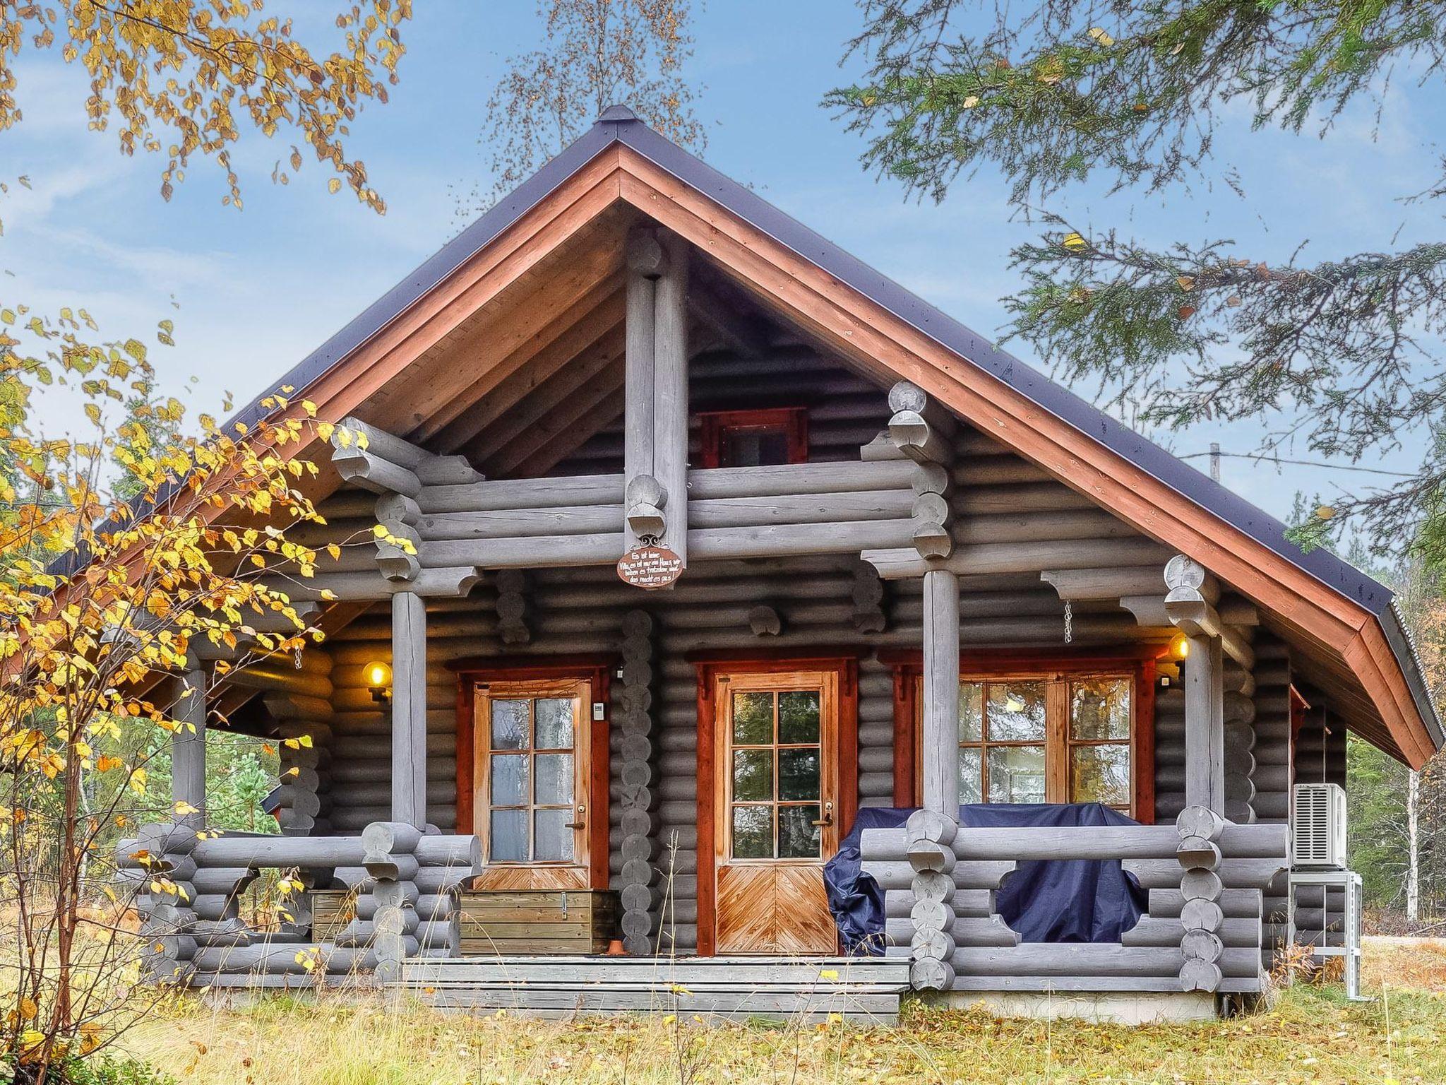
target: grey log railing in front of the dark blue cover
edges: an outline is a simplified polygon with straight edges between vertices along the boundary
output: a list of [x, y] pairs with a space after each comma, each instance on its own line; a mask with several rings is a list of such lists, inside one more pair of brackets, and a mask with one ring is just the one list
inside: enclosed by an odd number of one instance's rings
[[[927, 836], [924, 826], [868, 829], [860, 851], [885, 894], [886, 953], [937, 977], [943, 936], [928, 917], [951, 909], [949, 990], [1261, 990], [1262, 890], [1288, 862], [1283, 825], [1232, 825], [1190, 807], [1177, 825], [966, 826], [949, 856], [933, 854], [937, 843], [923, 846]], [[1018, 862], [1034, 859], [1122, 859], [1148, 890], [1148, 911], [1121, 945], [1021, 943], [995, 911], [995, 893]], [[938, 874], [949, 875], [943, 891]]]

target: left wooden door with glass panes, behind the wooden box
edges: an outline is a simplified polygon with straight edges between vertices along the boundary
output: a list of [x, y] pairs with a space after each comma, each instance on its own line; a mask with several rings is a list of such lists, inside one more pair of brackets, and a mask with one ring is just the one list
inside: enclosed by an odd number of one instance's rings
[[573, 678], [473, 687], [473, 817], [486, 864], [477, 888], [589, 885], [591, 684]]

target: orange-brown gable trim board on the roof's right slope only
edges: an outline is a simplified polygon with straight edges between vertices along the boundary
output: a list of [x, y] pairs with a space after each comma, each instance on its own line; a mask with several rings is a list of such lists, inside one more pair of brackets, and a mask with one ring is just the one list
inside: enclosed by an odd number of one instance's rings
[[697, 244], [745, 288], [785, 307], [792, 320], [856, 365], [914, 382], [1064, 485], [1200, 561], [1280, 615], [1296, 635], [1342, 657], [1401, 755], [1421, 765], [1434, 752], [1385, 632], [1368, 609], [630, 148], [619, 148], [617, 153], [623, 200]]

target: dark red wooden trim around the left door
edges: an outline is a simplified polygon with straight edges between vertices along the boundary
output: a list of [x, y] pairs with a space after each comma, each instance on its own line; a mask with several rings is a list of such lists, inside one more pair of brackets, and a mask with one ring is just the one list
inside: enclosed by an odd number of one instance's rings
[[480, 681], [535, 681], [541, 678], [574, 678], [591, 686], [593, 702], [607, 707], [603, 718], [589, 720], [590, 777], [587, 794], [587, 861], [593, 888], [607, 888], [609, 882], [609, 783], [612, 718], [610, 683], [619, 664], [616, 655], [509, 655], [454, 660], [448, 670], [457, 671], [457, 832], [471, 832], [476, 810], [476, 726], [473, 687]]

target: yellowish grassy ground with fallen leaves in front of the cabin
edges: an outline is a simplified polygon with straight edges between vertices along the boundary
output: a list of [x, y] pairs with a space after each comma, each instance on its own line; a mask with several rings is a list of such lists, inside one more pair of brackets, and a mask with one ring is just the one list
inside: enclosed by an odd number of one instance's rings
[[914, 1005], [898, 1029], [700, 1027], [448, 1017], [372, 1003], [175, 1007], [127, 1046], [215, 1085], [736, 1082], [1446, 1082], [1446, 942], [1372, 939], [1371, 1003], [1297, 985], [1270, 1011], [1192, 1026], [1001, 1021]]

